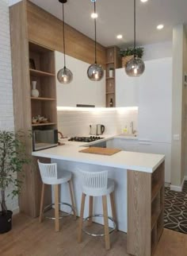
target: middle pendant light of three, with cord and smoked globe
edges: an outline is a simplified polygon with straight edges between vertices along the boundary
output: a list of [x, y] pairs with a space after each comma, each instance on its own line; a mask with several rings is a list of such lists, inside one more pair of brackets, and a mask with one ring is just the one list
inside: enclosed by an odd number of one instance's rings
[[[96, 0], [94, 2], [94, 14], [96, 14]], [[100, 81], [103, 78], [104, 70], [101, 65], [97, 64], [97, 33], [96, 33], [96, 18], [94, 18], [95, 28], [95, 63], [88, 68], [87, 75], [92, 81]]]

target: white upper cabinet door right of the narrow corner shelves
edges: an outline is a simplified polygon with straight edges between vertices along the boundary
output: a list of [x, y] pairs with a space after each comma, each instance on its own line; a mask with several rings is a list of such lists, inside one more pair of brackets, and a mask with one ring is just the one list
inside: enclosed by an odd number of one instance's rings
[[116, 69], [116, 107], [137, 107], [139, 84], [137, 77], [129, 77], [124, 68]]

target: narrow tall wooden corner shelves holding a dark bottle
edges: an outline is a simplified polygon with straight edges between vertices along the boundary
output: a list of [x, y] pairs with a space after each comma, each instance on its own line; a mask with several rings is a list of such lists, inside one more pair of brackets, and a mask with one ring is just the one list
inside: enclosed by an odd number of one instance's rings
[[[106, 48], [106, 107], [110, 107], [111, 99], [113, 107], [116, 107], [115, 70], [121, 67], [119, 51], [116, 46]], [[113, 76], [109, 76], [110, 68], [113, 68]]]

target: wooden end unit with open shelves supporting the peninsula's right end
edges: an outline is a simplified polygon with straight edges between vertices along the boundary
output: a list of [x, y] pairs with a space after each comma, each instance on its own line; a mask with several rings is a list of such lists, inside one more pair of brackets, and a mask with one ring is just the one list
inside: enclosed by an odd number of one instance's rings
[[162, 235], [164, 161], [154, 173], [128, 171], [128, 254], [150, 256]]

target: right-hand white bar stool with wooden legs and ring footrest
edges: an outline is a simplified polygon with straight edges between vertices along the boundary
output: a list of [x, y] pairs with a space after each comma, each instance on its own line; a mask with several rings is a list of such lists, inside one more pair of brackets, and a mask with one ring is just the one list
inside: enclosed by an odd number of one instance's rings
[[[116, 206], [114, 200], [114, 180], [108, 179], [108, 171], [102, 172], [85, 172], [82, 173], [82, 203], [81, 203], [81, 213], [79, 219], [78, 227], [78, 242], [82, 242], [82, 231], [85, 231], [88, 235], [93, 236], [104, 236], [105, 235], [105, 248], [110, 249], [110, 239], [109, 234], [116, 231]], [[107, 209], [107, 196], [110, 196], [111, 208], [113, 213], [113, 218], [108, 216]], [[89, 217], [83, 219], [85, 200], [86, 196], [89, 196]], [[93, 196], [102, 196], [103, 204], [103, 215], [93, 215]], [[92, 223], [93, 217], [104, 217], [105, 234], [97, 235], [92, 234], [85, 229], [82, 229], [83, 221], [88, 220], [89, 225]], [[109, 219], [113, 222], [113, 229], [109, 231]]]

